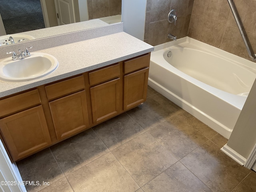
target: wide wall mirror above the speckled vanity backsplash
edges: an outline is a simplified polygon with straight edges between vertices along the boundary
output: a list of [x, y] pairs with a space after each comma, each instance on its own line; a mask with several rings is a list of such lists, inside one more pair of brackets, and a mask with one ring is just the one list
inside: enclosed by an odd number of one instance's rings
[[[66, 3], [74, 6], [70, 8]], [[122, 0], [21, 0], [19, 4], [23, 5], [22, 9], [20, 6], [12, 6], [13, 4], [16, 4], [15, 0], [1, 0], [0, 4], [0, 24], [3, 21], [6, 33], [11, 35], [21, 33], [38, 39], [121, 22]], [[18, 7], [19, 11], [14, 7]], [[29, 14], [25, 13], [25, 8]], [[62, 16], [60, 12], [65, 14]], [[67, 12], [70, 12], [70, 15], [67, 15]], [[15, 13], [17, 16], [12, 15]], [[56, 13], [59, 18], [56, 18]], [[28, 22], [28, 25], [22, 27], [25, 22]], [[36, 22], [40, 24], [36, 25]], [[47, 28], [44, 28], [45, 26]]]

